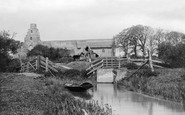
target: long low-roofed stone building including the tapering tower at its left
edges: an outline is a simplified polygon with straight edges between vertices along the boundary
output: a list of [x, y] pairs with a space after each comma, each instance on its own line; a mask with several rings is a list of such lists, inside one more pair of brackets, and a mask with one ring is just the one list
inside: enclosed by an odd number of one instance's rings
[[37, 25], [31, 24], [24, 38], [23, 47], [26, 50], [31, 50], [41, 44], [54, 48], [67, 48], [71, 51], [71, 55], [75, 55], [80, 49], [88, 46], [100, 57], [111, 57], [113, 56], [112, 42], [112, 39], [41, 41]]

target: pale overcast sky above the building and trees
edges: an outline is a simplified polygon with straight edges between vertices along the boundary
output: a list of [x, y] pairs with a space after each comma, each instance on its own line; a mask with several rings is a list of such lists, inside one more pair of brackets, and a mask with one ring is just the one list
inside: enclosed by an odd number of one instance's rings
[[111, 39], [138, 24], [185, 33], [185, 0], [0, 0], [0, 31], [23, 41], [31, 23], [42, 41]]

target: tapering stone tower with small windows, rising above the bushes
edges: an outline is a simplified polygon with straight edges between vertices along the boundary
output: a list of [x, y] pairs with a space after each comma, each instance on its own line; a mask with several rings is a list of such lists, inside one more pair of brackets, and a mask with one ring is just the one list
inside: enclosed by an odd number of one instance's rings
[[24, 46], [28, 50], [32, 50], [37, 44], [40, 43], [40, 34], [36, 24], [30, 24], [27, 35], [24, 38]]

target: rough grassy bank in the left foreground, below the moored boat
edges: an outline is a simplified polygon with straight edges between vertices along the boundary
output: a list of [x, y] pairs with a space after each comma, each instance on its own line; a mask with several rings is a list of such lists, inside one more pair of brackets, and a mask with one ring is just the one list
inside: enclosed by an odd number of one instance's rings
[[[55, 82], [58, 81], [58, 82]], [[20, 74], [0, 74], [1, 115], [111, 115], [97, 102], [75, 99], [59, 80], [35, 79]]]

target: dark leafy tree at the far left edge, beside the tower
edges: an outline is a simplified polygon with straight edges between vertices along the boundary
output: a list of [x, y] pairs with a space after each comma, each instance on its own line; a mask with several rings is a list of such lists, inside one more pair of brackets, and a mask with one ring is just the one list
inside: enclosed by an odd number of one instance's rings
[[20, 42], [15, 41], [7, 31], [0, 32], [0, 72], [5, 72], [8, 69], [8, 64], [12, 60], [13, 54], [17, 53], [20, 47]]

